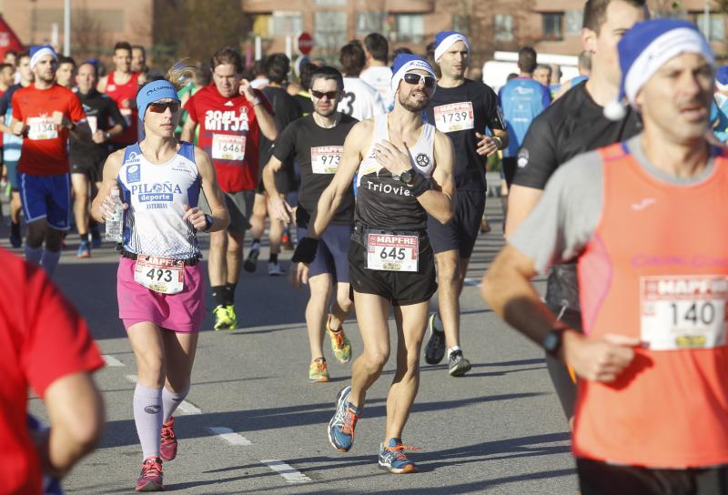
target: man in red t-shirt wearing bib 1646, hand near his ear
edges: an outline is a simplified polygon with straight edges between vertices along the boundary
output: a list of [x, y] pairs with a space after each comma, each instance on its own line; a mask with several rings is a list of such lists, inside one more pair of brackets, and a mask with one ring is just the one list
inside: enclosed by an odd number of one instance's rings
[[[215, 329], [221, 330], [238, 328], [235, 287], [258, 185], [258, 139], [262, 132], [273, 141], [278, 131], [268, 99], [243, 79], [243, 57], [236, 50], [217, 50], [210, 66], [214, 85], [200, 89], [187, 100], [189, 118], [182, 129], [182, 140], [193, 142], [200, 126], [198, 144], [212, 157], [230, 213], [227, 234], [224, 230], [210, 234], [207, 264], [215, 300]], [[208, 209], [200, 199], [203, 208]]]

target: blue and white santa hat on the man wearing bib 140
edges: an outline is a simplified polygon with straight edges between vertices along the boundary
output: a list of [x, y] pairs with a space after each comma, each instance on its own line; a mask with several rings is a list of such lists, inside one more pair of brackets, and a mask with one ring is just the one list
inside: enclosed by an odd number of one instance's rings
[[713, 49], [697, 26], [678, 19], [652, 19], [637, 23], [617, 45], [622, 82], [617, 101], [604, 106], [604, 116], [621, 120], [626, 115], [624, 101], [634, 107], [642, 86], [675, 56], [698, 54], [715, 65]]

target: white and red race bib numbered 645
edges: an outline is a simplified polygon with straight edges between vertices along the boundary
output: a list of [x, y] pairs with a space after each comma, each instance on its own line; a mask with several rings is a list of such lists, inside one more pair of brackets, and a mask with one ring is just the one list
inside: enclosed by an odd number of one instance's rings
[[417, 271], [420, 237], [368, 234], [367, 268], [386, 271]]

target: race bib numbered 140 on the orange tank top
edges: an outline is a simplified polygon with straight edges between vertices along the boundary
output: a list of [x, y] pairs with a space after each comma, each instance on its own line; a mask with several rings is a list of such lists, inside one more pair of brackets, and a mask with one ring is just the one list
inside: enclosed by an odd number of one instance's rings
[[725, 276], [642, 277], [640, 296], [645, 349], [712, 349], [725, 345]]

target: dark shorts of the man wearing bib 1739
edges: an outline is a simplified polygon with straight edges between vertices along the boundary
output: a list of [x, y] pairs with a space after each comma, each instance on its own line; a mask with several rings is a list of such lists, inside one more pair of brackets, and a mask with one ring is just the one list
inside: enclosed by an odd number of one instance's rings
[[455, 215], [442, 225], [434, 217], [427, 219], [427, 234], [435, 253], [456, 249], [460, 258], [470, 258], [480, 233], [480, 220], [485, 211], [485, 192], [458, 191], [455, 193]]

